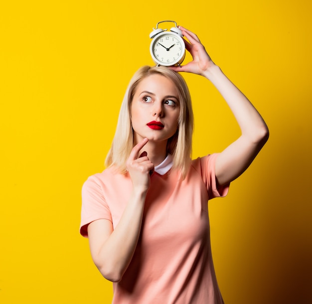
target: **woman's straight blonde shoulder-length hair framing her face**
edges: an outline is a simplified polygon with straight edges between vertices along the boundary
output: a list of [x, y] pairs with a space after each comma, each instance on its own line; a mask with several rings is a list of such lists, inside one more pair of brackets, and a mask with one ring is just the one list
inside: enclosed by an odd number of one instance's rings
[[183, 77], [162, 66], [144, 66], [132, 77], [121, 105], [115, 136], [111, 149], [107, 154], [105, 165], [107, 167], [116, 166], [121, 173], [127, 172], [126, 161], [134, 147], [131, 103], [139, 83], [144, 78], [154, 74], [162, 75], [170, 79], [176, 86], [178, 92], [180, 103], [178, 127], [175, 134], [168, 139], [167, 153], [173, 156], [173, 168], [179, 169], [182, 178], [185, 178], [191, 161], [192, 152], [194, 118], [191, 97]]

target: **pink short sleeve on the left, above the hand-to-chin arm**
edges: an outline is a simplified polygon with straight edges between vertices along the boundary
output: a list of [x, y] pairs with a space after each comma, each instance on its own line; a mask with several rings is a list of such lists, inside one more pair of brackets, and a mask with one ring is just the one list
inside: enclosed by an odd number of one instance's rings
[[80, 234], [88, 237], [88, 224], [101, 218], [112, 221], [111, 211], [103, 194], [102, 182], [93, 175], [82, 187]]

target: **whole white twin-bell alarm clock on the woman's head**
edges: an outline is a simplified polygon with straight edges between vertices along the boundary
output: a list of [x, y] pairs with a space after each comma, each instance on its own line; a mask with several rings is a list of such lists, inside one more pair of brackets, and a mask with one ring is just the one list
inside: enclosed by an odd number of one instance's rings
[[[161, 22], [173, 22], [175, 26], [167, 31], [167, 29], [158, 28]], [[150, 34], [150, 38], [153, 39], [150, 52], [157, 66], [180, 66], [185, 58], [185, 43], [182, 37], [182, 31], [175, 21], [164, 20], [156, 24], [156, 29], [153, 28]]]

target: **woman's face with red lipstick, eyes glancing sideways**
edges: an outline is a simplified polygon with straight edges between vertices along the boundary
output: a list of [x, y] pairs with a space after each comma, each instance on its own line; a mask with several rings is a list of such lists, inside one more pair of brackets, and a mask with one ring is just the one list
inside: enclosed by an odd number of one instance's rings
[[167, 141], [174, 135], [180, 114], [178, 92], [174, 83], [159, 74], [144, 78], [131, 103], [135, 143]]

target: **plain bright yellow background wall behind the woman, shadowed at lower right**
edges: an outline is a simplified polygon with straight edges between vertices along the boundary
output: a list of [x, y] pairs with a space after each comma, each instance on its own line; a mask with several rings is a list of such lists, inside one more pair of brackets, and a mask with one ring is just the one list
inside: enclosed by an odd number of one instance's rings
[[[198, 34], [271, 132], [209, 205], [225, 302], [312, 303], [311, 11], [308, 0], [1, 1], [0, 303], [111, 302], [79, 235], [80, 190], [104, 169], [126, 86], [153, 64], [149, 34], [165, 19]], [[210, 83], [184, 77], [193, 156], [221, 151], [235, 120]]]

